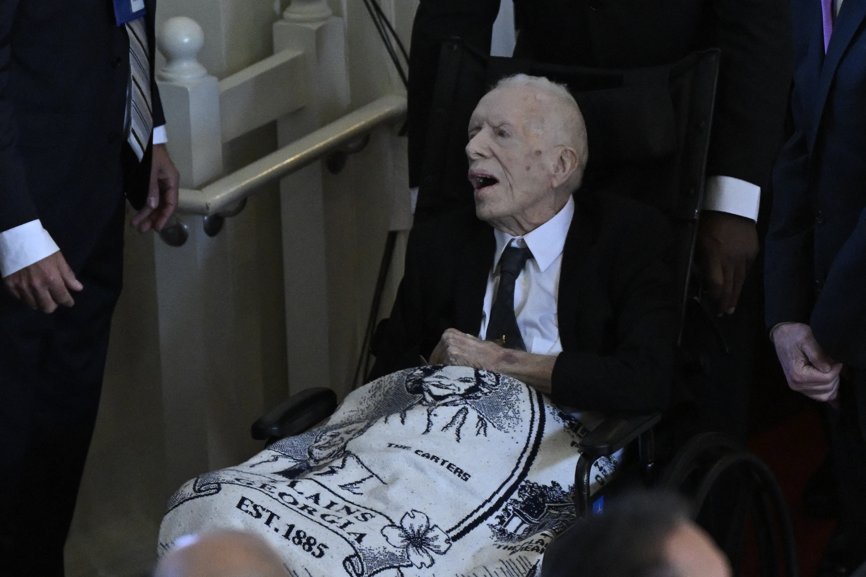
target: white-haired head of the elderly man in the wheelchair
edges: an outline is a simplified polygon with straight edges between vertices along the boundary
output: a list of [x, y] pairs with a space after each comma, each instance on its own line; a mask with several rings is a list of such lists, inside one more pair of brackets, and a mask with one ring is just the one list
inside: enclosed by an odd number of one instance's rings
[[466, 155], [478, 218], [527, 234], [580, 186], [588, 158], [584, 119], [565, 87], [509, 76], [475, 107]]

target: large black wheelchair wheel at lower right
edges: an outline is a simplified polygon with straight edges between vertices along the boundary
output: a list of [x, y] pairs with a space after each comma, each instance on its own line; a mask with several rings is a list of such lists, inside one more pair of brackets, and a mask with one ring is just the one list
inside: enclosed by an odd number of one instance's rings
[[[797, 550], [785, 497], [769, 467], [721, 433], [690, 439], [665, 468], [659, 486], [680, 492], [693, 518], [714, 536], [740, 574], [744, 535], [752, 523], [759, 574], [798, 577]], [[781, 562], [779, 562], [781, 560]]]

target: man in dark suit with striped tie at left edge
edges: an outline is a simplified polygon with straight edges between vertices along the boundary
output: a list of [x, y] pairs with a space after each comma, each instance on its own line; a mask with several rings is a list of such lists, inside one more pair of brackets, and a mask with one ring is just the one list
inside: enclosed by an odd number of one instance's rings
[[177, 203], [155, 10], [0, 0], [3, 576], [63, 574], [120, 294], [124, 194], [142, 231]]

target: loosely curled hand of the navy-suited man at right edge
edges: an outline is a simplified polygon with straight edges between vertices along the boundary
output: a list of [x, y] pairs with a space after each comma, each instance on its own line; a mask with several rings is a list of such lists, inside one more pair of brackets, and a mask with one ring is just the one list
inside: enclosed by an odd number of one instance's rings
[[842, 364], [824, 353], [808, 324], [779, 324], [772, 338], [789, 387], [815, 401], [836, 399]]

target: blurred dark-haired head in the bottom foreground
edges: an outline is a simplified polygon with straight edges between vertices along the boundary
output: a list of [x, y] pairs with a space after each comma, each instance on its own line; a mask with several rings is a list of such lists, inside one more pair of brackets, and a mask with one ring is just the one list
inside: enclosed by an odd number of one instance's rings
[[661, 491], [617, 498], [547, 547], [541, 577], [730, 577], [713, 540], [680, 497]]

